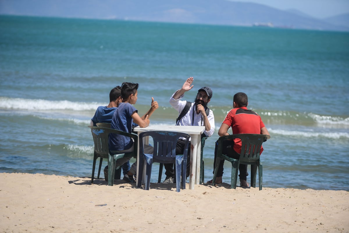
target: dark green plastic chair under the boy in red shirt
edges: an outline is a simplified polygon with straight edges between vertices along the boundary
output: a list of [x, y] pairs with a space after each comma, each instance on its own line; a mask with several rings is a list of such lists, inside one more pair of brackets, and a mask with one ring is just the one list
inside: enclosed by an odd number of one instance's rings
[[[240, 138], [242, 141], [240, 159], [233, 159], [227, 155], [222, 154], [222, 142], [224, 140]], [[258, 167], [258, 177], [259, 177], [259, 190], [262, 190], [262, 174], [263, 166], [260, 161], [260, 148], [262, 143], [269, 139], [269, 135], [264, 134], [231, 134], [218, 138], [217, 146], [217, 158], [214, 168], [213, 183], [215, 184], [218, 167], [221, 159], [228, 160], [231, 162], [231, 188], [236, 189], [236, 182], [238, 179], [239, 165], [249, 164], [251, 165], [251, 187], [256, 187], [256, 175]], [[233, 149], [232, 149], [233, 150]]]

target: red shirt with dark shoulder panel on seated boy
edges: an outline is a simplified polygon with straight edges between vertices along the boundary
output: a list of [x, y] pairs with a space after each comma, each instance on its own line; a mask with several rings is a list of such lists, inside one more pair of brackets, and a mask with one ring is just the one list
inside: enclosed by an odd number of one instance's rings
[[[225, 117], [224, 124], [231, 126], [233, 134], [239, 133], [255, 133], [260, 134], [261, 129], [265, 127], [261, 117], [252, 110], [248, 110], [246, 107], [233, 108]], [[240, 154], [241, 152], [241, 139], [234, 139], [234, 150]], [[262, 153], [263, 147], [261, 147], [260, 153]]]

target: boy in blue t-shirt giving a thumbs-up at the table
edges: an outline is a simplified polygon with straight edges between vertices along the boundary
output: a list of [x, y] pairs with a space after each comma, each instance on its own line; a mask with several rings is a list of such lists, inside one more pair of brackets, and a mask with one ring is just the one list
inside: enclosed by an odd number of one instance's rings
[[[138, 115], [138, 110], [133, 106], [137, 102], [138, 98], [138, 83], [124, 82], [121, 86], [122, 103], [119, 104], [117, 110], [111, 120], [111, 128], [120, 131], [132, 132], [132, 125], [135, 123], [141, 128], [145, 128], [149, 125], [149, 117], [159, 107], [158, 103], [151, 97], [151, 107], [149, 111], [142, 117]], [[127, 150], [133, 146], [133, 140], [129, 137], [125, 137], [119, 134], [111, 133], [109, 135], [109, 151], [113, 154], [113, 151]], [[154, 148], [145, 145], [144, 152], [152, 154]], [[130, 158], [121, 158], [116, 161], [115, 166], [118, 167]], [[136, 162], [133, 163], [131, 169], [124, 175], [124, 180], [127, 182], [134, 182], [133, 175], [136, 174]]]

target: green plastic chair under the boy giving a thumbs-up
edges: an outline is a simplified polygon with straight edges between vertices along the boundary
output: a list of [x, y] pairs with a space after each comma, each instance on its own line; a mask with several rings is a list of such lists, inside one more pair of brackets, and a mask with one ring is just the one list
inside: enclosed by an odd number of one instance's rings
[[[95, 143], [95, 152], [97, 155], [102, 155], [103, 158], [108, 159], [108, 177], [115, 177], [115, 162], [120, 158], [137, 158], [137, 150], [138, 150], [138, 135], [134, 133], [127, 133], [124, 131], [98, 127], [98, 126], [88, 126], [91, 129], [93, 140]], [[130, 137], [134, 141], [134, 145], [129, 150], [125, 151], [115, 151], [115, 154], [110, 154], [108, 139], [110, 133], [120, 134], [122, 136]], [[97, 157], [98, 158], [98, 157]], [[97, 159], [96, 158], [96, 159]], [[94, 165], [92, 167], [92, 179], [94, 177], [94, 171], [96, 166], [96, 160], [94, 158]], [[99, 166], [101, 167], [101, 165]], [[117, 168], [118, 173], [116, 179], [120, 179], [121, 175], [121, 166]], [[93, 183], [93, 180], [91, 181]], [[108, 179], [108, 185], [113, 186], [114, 179]]]

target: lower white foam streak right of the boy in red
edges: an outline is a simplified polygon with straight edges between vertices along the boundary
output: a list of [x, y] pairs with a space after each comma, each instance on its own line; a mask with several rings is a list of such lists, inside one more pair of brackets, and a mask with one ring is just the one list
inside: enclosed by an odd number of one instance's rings
[[281, 134], [284, 136], [301, 136], [305, 138], [324, 137], [331, 139], [349, 139], [347, 132], [303, 132], [303, 131], [288, 131], [288, 130], [273, 130], [268, 129], [270, 133]]

